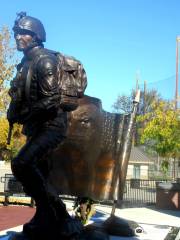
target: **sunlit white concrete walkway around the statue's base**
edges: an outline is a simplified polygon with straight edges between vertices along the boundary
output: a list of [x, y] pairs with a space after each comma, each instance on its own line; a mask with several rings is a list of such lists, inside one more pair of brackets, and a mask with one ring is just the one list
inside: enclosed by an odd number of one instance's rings
[[[70, 210], [73, 203], [66, 201], [66, 206]], [[100, 218], [106, 218], [111, 213], [110, 206], [97, 205], [97, 217], [95, 221]], [[31, 213], [32, 214], [32, 213]], [[111, 240], [164, 240], [170, 228], [168, 226], [176, 226], [180, 228], [180, 211], [158, 210], [155, 207], [147, 208], [124, 208], [116, 209], [115, 215], [126, 220], [137, 222], [145, 229], [145, 233], [137, 237], [114, 237]], [[1, 219], [1, 217], [0, 217]], [[1, 224], [1, 220], [0, 220]], [[21, 231], [22, 225], [11, 229], [4, 229], [0, 232], [0, 239], [8, 239], [9, 231]], [[173, 240], [180, 240], [180, 235]]]

